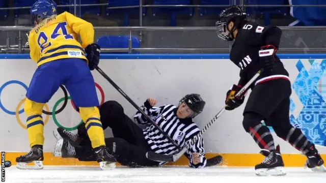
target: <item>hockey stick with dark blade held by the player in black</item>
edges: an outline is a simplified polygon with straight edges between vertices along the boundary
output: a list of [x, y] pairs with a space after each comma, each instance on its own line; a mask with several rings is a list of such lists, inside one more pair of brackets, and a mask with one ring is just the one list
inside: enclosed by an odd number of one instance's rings
[[[254, 77], [252, 77], [248, 81], [248, 83], [240, 89], [240, 91], [235, 95], [235, 97], [242, 96], [249, 89], [250, 85], [259, 77], [260, 73], [262, 73], [262, 72], [263, 72], [263, 69], [260, 69], [254, 75]], [[153, 151], [148, 151], [146, 153], [146, 158], [149, 160], [152, 160], [152, 161], [159, 161], [159, 162], [176, 162], [185, 153], [185, 151], [187, 149], [189, 149], [190, 147], [192, 147], [195, 144], [195, 142], [198, 140], [198, 138], [203, 135], [203, 133], [214, 123], [214, 121], [222, 115], [222, 113], [225, 111], [225, 107], [226, 106], [224, 106], [218, 112], [218, 114], [216, 114], [215, 117], [209, 121], [209, 123], [204, 127], [203, 130], [201, 130], [196, 136], [194, 136], [193, 139], [189, 140], [187, 142], [187, 145], [181, 151], [179, 151], [179, 153], [177, 153], [175, 155], [162, 155], [162, 154], [154, 153]]]

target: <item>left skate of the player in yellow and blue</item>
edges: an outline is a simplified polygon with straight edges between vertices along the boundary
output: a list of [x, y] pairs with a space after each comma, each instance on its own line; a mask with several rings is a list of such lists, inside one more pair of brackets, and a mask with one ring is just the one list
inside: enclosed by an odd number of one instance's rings
[[[32, 169], [39, 170], [43, 169], [43, 146], [42, 145], [34, 145], [31, 148], [31, 151], [26, 154], [16, 158], [17, 168], [18, 169]], [[27, 166], [28, 163], [33, 162], [33, 166]]]

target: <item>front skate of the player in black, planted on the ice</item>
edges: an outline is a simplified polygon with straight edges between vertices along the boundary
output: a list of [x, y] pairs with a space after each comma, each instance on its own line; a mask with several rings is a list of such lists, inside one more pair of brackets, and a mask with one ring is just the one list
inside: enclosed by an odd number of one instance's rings
[[[261, 151], [261, 154], [266, 156], [265, 159], [255, 166], [256, 174], [260, 176], [266, 175], [285, 175], [284, 163], [279, 150]], [[271, 173], [270, 170], [275, 170], [276, 173]]]

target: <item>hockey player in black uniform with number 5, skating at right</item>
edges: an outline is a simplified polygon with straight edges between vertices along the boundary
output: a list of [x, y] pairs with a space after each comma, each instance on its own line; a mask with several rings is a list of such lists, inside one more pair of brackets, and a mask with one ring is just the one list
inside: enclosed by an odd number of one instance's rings
[[[266, 158], [255, 166], [256, 174], [267, 175], [270, 169], [284, 172], [284, 163], [279, 148], [266, 126], [273, 127], [277, 136], [289, 142], [307, 156], [306, 165], [313, 170], [324, 170], [315, 145], [294, 128], [289, 120], [291, 84], [289, 74], [276, 55], [282, 31], [276, 26], [260, 26], [246, 20], [246, 13], [239, 6], [223, 10], [216, 22], [218, 36], [234, 43], [230, 52], [231, 61], [240, 68], [240, 79], [227, 92], [226, 110], [239, 107], [245, 95], [234, 96], [261, 68], [264, 70], [251, 85], [252, 92], [243, 111], [242, 125], [264, 152]], [[261, 124], [265, 120], [266, 126]], [[320, 169], [319, 169], [320, 167]], [[318, 168], [318, 169], [317, 169]]]

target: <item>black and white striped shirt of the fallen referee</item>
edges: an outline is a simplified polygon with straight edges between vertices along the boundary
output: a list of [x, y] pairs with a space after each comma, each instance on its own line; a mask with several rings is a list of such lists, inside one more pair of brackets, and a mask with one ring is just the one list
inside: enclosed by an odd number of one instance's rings
[[[177, 107], [174, 105], [163, 105], [160, 107], [151, 107], [146, 100], [141, 108], [155, 123], [166, 132], [180, 147], [185, 146], [185, 142], [192, 139], [199, 133], [199, 128], [192, 121], [192, 118], [179, 119], [176, 115]], [[145, 125], [143, 130], [145, 139], [155, 153], [172, 155], [178, 153], [178, 148], [174, 146], [163, 134], [161, 134], [155, 126], [153, 126], [142, 113], [137, 111], [134, 115], [135, 121], [141, 125]], [[201, 163], [194, 165], [192, 162], [192, 153], [199, 153]], [[200, 137], [192, 148], [186, 151], [185, 156], [189, 159], [189, 166], [195, 168], [203, 168], [206, 166], [206, 158], [204, 152], [203, 138]], [[160, 165], [166, 162], [161, 162]]]

